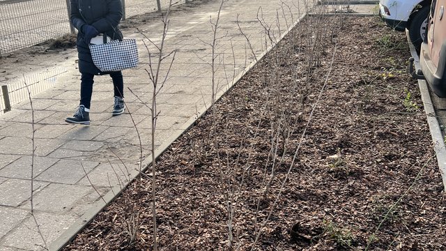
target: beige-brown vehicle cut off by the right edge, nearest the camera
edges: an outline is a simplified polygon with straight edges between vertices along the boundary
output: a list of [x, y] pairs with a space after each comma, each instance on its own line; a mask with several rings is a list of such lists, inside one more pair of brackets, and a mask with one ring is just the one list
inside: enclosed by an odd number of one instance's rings
[[446, 0], [433, 0], [426, 39], [420, 52], [420, 66], [433, 93], [446, 98]]

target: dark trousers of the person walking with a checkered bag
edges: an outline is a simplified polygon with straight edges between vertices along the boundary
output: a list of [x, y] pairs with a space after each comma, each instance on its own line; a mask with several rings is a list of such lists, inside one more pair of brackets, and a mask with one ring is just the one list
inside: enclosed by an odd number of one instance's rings
[[[91, 95], [93, 93], [93, 77], [95, 75], [90, 73], [82, 73], [81, 76], [81, 100], [80, 105], [84, 105], [85, 108], [90, 109]], [[110, 73], [110, 77], [113, 80], [114, 96], [124, 97], [124, 81], [123, 73], [121, 71]]]

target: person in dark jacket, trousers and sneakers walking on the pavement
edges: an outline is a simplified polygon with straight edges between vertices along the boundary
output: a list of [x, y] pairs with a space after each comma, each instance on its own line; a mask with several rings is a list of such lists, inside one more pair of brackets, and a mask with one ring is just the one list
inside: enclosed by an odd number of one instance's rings
[[[114, 105], [112, 115], [123, 114], [124, 83], [121, 71], [102, 72], [93, 63], [89, 45], [91, 39], [105, 33], [111, 40], [122, 40], [123, 34], [118, 24], [123, 17], [121, 0], [71, 0], [70, 22], [77, 29], [77, 54], [81, 73], [80, 102], [68, 123], [90, 124], [90, 105], [95, 75], [110, 75], [114, 86]], [[96, 38], [95, 38], [96, 40]]]

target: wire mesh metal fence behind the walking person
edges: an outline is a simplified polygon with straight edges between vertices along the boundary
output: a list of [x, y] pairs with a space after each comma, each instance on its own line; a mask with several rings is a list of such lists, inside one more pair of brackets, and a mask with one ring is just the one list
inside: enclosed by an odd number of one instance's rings
[[[157, 10], [157, 0], [121, 1], [126, 17]], [[168, 0], [160, 3], [162, 8], [169, 5]], [[0, 56], [75, 32], [70, 28], [69, 5], [70, 0], [0, 0]]]

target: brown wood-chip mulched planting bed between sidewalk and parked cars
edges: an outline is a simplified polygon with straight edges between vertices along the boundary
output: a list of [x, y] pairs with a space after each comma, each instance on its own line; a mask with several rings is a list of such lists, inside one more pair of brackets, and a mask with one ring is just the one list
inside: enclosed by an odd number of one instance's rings
[[[378, 17], [305, 18], [158, 159], [158, 248], [446, 250], [409, 57]], [[65, 250], [151, 250], [151, 198], [137, 178]]]

